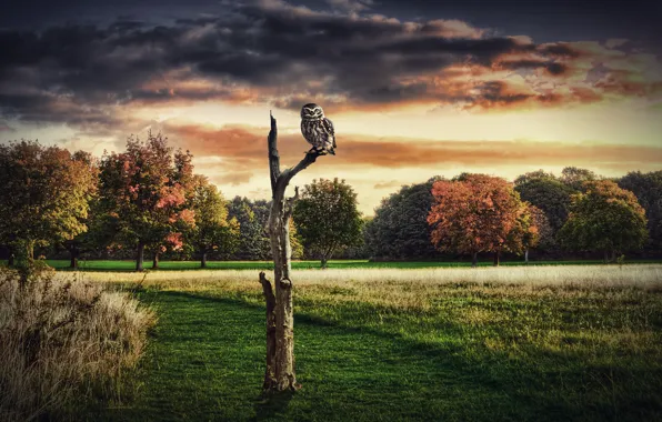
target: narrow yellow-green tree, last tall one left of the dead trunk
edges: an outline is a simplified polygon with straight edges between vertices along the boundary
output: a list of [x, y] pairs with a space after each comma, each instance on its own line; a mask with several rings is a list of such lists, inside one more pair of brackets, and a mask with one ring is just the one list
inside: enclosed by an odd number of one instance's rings
[[207, 268], [209, 252], [232, 252], [239, 240], [239, 222], [228, 218], [228, 205], [214, 184], [199, 177], [192, 197], [194, 224], [184, 231], [187, 242], [200, 255], [200, 267]]

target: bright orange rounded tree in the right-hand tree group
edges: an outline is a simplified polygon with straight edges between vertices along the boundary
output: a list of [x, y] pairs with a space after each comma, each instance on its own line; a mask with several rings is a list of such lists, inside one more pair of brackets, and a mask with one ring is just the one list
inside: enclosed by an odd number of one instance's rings
[[434, 203], [428, 215], [432, 242], [440, 251], [469, 253], [472, 267], [480, 252], [521, 253], [534, 237], [529, 208], [512, 183], [487, 174], [462, 174], [432, 185]]

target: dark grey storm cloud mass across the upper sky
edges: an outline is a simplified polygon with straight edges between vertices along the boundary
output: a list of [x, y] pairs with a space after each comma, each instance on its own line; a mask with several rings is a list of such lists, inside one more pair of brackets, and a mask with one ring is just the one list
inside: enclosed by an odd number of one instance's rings
[[[325, 96], [339, 108], [510, 104], [531, 96], [506, 92], [503, 82], [455, 83], [447, 92], [421, 77], [453, 66], [491, 69], [512, 53], [542, 58], [503, 61], [502, 69], [544, 68], [560, 76], [566, 67], [558, 60], [580, 56], [570, 44], [488, 37], [457, 20], [403, 22], [279, 0], [160, 26], [124, 17], [103, 28], [0, 30], [0, 51], [1, 114], [101, 125], [118, 122], [99, 110], [134, 102], [222, 99], [298, 108], [303, 98]], [[238, 96], [239, 88], [250, 92]]]

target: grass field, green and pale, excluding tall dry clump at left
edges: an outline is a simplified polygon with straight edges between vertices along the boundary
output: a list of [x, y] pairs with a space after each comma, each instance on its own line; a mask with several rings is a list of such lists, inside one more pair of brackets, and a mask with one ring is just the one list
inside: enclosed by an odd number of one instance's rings
[[662, 265], [294, 271], [303, 389], [271, 401], [257, 271], [76, 277], [159, 316], [136, 401], [89, 420], [662, 419]]

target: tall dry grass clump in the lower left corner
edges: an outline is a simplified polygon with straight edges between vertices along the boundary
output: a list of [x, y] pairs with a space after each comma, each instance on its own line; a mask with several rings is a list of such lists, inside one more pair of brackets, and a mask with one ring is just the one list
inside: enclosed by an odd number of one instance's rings
[[80, 275], [0, 271], [0, 421], [73, 419], [90, 399], [122, 399], [154, 314]]

